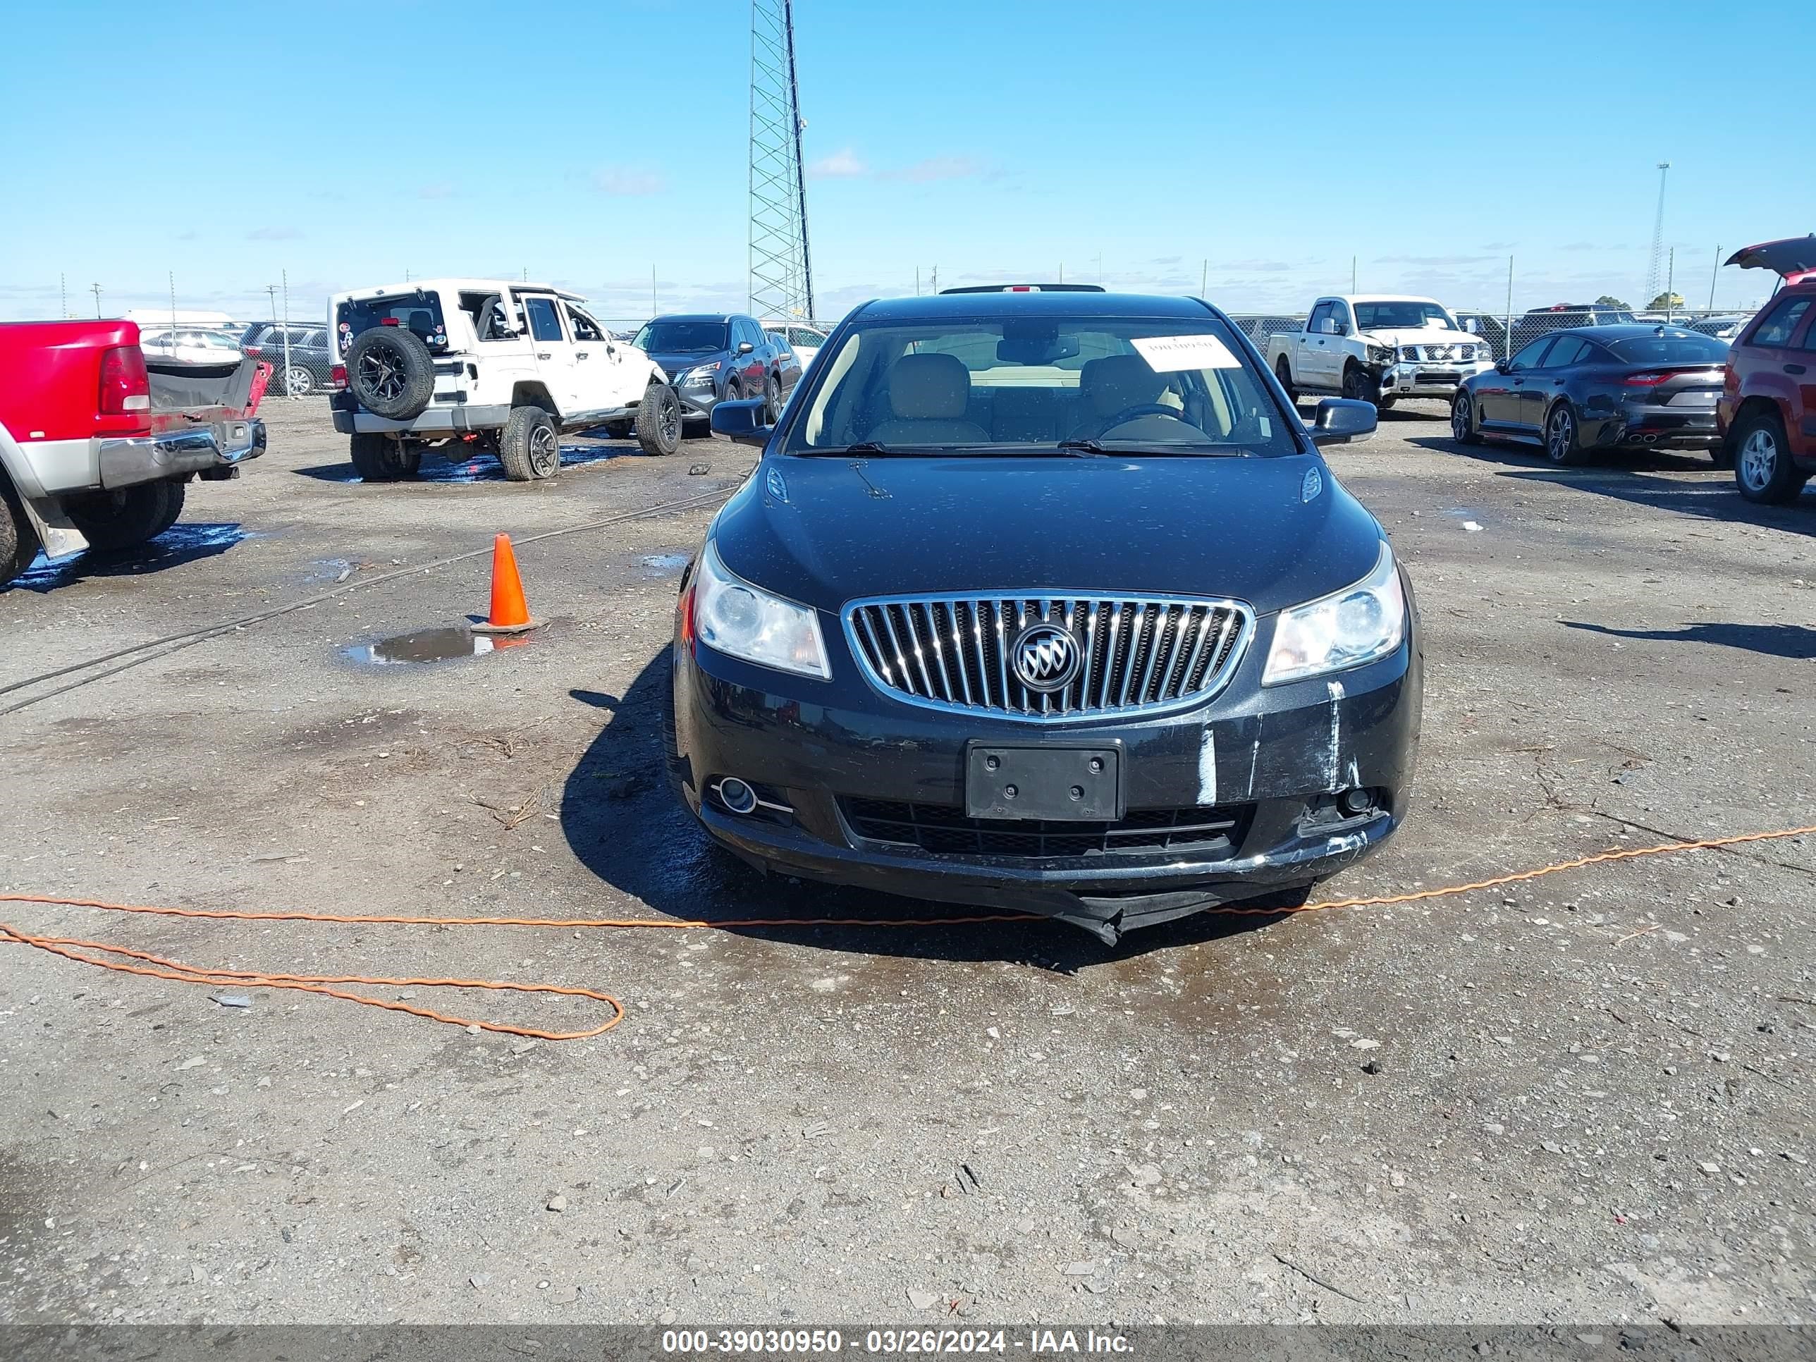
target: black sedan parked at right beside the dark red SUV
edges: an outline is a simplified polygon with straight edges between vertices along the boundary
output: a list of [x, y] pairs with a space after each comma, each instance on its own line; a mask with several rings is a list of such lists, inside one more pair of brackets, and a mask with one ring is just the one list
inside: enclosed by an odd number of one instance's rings
[[1727, 341], [1627, 323], [1540, 336], [1451, 400], [1451, 434], [1542, 443], [1553, 463], [1598, 450], [1678, 445], [1718, 452], [1714, 403]]

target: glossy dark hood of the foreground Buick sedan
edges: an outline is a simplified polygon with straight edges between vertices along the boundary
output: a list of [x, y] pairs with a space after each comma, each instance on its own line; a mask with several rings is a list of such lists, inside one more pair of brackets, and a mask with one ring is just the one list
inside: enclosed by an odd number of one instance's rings
[[804, 605], [868, 596], [1231, 596], [1358, 581], [1380, 527], [1317, 456], [765, 458], [714, 521], [721, 561]]

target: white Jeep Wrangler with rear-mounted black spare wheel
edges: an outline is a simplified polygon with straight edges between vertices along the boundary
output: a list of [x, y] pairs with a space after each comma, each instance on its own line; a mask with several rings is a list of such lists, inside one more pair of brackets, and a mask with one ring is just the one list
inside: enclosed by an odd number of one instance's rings
[[329, 298], [334, 429], [369, 483], [414, 478], [423, 450], [496, 454], [505, 476], [552, 478], [561, 432], [681, 445], [681, 400], [650, 358], [577, 294], [512, 280], [418, 280]]

